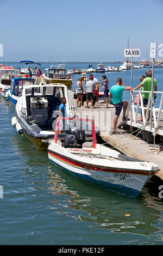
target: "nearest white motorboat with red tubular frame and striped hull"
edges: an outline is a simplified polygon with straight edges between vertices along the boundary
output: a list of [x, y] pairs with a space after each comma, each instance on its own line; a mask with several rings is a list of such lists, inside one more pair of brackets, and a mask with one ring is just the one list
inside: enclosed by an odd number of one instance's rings
[[[58, 136], [61, 120], [69, 122], [69, 131]], [[92, 124], [92, 142], [86, 141], [83, 129], [76, 129], [78, 121]], [[97, 144], [95, 124], [91, 119], [57, 118], [54, 139], [49, 141], [49, 161], [68, 173], [116, 192], [137, 197], [146, 182], [159, 167], [127, 157], [104, 145]]]

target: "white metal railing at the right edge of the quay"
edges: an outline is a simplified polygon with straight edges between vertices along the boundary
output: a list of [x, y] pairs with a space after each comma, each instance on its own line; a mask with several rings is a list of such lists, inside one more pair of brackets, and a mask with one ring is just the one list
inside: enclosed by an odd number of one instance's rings
[[[135, 93], [136, 94], [139, 93], [136, 104], [134, 103], [134, 99], [136, 96]], [[147, 107], [143, 106], [142, 93], [149, 93]], [[153, 105], [151, 109], [151, 93], [149, 91], [135, 90], [134, 92], [130, 92], [127, 115], [126, 115], [127, 117], [126, 123], [130, 126], [142, 127], [143, 130], [156, 132], [157, 134], [163, 135], [163, 129], [161, 129], [162, 123], [163, 123], [163, 109], [162, 109], [163, 92], [154, 91], [153, 93], [157, 95], [157, 99], [159, 99], [160, 101], [159, 108], [155, 108], [154, 99], [153, 99]], [[146, 115], [145, 115], [145, 110], [146, 110]], [[148, 116], [149, 114], [151, 114], [150, 113], [151, 110], [152, 110], [152, 119], [148, 120]], [[138, 119], [140, 111], [142, 113], [142, 121]]]

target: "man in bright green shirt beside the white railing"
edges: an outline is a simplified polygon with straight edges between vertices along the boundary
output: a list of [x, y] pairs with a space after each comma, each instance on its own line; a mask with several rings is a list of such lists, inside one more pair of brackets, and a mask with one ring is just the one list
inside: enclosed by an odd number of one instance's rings
[[[150, 69], [147, 69], [146, 72], [146, 78], [143, 79], [143, 81], [139, 84], [139, 86], [136, 86], [133, 90], [137, 90], [139, 88], [141, 88], [142, 91], [149, 91], [151, 92], [152, 89], [152, 71]], [[158, 90], [157, 88], [157, 83], [156, 80], [153, 80], [153, 87], [154, 87], [154, 91], [156, 92]], [[153, 98], [155, 99], [156, 94], [153, 94]], [[142, 93], [142, 98], [143, 98], [143, 106], [146, 107], [146, 105], [148, 105], [148, 99], [149, 99], [149, 93]], [[145, 109], [145, 116], [146, 116], [146, 112], [147, 110]], [[147, 121], [149, 121], [150, 117], [150, 111], [149, 111], [149, 115], [148, 115], [148, 119]]]

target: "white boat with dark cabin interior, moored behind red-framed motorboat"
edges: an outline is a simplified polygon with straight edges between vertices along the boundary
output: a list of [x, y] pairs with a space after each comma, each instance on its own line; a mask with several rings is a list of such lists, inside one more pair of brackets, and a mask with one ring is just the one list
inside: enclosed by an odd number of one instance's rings
[[46, 150], [48, 139], [54, 136], [55, 120], [59, 115], [62, 96], [66, 97], [67, 115], [73, 116], [67, 87], [64, 84], [24, 86], [22, 96], [17, 99], [15, 121], [12, 125], [37, 148]]

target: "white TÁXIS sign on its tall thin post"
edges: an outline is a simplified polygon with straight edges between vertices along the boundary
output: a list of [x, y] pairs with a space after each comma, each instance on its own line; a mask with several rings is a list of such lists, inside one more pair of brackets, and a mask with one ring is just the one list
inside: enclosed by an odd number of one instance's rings
[[[131, 57], [131, 89], [133, 89], [133, 57], [140, 57], [140, 49], [133, 49], [133, 48], [128, 48], [124, 49], [124, 57]], [[132, 95], [133, 93], [130, 93], [130, 98], [129, 98], [129, 105], [131, 101], [131, 125], [130, 125], [130, 131], [133, 131], [133, 100], [132, 100]], [[128, 106], [129, 107], [129, 106]]]

